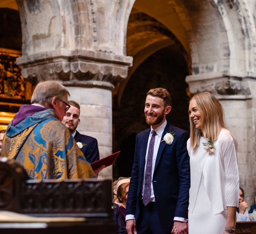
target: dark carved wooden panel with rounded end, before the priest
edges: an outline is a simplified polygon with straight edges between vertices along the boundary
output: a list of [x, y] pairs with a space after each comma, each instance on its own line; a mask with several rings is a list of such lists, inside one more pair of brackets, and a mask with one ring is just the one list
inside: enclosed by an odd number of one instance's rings
[[15, 161], [0, 161], [0, 210], [36, 216], [112, 217], [112, 181], [27, 180]]

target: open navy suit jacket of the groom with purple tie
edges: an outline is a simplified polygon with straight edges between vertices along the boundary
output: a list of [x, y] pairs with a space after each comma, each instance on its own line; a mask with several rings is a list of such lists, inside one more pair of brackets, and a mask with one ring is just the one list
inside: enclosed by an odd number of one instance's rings
[[[138, 200], [141, 199], [150, 130], [150, 128], [146, 129], [136, 136], [134, 163], [126, 204], [126, 215], [135, 215], [136, 222], [139, 221]], [[171, 145], [167, 145], [165, 141], [160, 142], [152, 180], [157, 214], [166, 232], [171, 232], [174, 217], [188, 218], [190, 188], [190, 165], [186, 148], [189, 133], [167, 122], [161, 140], [170, 131], [175, 133], [176, 138]]]

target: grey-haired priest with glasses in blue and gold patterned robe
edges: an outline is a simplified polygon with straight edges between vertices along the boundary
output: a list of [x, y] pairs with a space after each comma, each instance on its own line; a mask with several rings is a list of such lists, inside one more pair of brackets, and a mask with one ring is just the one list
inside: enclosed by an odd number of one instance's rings
[[95, 177], [70, 131], [61, 123], [70, 108], [68, 95], [57, 81], [39, 83], [32, 105], [22, 105], [7, 127], [2, 156], [20, 163], [29, 179]]

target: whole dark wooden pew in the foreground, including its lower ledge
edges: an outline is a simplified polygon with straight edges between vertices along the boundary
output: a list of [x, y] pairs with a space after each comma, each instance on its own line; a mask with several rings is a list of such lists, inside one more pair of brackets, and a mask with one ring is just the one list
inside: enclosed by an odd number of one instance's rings
[[112, 181], [28, 180], [15, 161], [0, 161], [0, 211], [32, 217], [83, 217], [83, 222], [1, 222], [0, 233], [116, 233]]

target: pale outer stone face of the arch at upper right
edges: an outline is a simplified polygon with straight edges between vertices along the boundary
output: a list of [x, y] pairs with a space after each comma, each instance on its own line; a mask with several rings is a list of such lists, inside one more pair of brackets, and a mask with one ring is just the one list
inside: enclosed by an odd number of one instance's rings
[[245, 71], [254, 71], [255, 61], [253, 40], [256, 38], [253, 16], [247, 1], [214, 0], [227, 30], [230, 47], [230, 69], [237, 71], [240, 66]]

